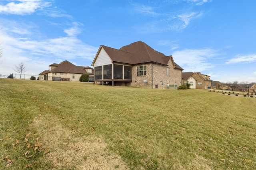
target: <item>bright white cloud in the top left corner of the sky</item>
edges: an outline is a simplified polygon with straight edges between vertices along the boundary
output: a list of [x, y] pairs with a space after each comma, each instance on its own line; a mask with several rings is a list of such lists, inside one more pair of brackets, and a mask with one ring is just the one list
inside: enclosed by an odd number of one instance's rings
[[16, 15], [29, 15], [34, 13], [38, 8], [45, 8], [50, 6], [50, 2], [42, 0], [11, 0], [12, 2], [6, 5], [0, 5], [0, 13], [16, 14]]

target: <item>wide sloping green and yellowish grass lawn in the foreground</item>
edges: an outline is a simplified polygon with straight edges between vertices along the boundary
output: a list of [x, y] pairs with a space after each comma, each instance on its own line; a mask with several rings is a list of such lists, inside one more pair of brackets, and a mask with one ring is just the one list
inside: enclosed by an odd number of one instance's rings
[[0, 78], [0, 169], [255, 170], [256, 98]]

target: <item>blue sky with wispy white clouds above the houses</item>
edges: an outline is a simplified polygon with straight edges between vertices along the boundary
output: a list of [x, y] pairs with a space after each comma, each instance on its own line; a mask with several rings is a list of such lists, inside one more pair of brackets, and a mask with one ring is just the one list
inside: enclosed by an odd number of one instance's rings
[[0, 0], [0, 74], [39, 74], [68, 60], [90, 66], [100, 45], [136, 41], [183, 72], [256, 82], [254, 0]]

